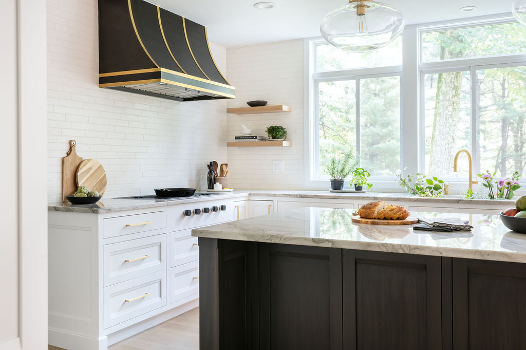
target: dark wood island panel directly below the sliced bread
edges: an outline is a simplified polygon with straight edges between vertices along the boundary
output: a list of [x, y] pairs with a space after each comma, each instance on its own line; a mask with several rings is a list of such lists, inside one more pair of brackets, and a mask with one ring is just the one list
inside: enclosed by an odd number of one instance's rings
[[343, 348], [439, 350], [441, 259], [343, 249]]

